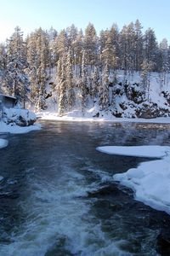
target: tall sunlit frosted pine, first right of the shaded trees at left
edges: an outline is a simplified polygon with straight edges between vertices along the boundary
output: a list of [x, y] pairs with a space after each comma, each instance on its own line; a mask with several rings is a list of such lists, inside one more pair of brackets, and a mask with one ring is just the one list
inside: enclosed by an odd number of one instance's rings
[[50, 67], [48, 34], [40, 27], [27, 39], [27, 58], [30, 63], [28, 75], [31, 80], [31, 102], [38, 110], [46, 109], [46, 83]]

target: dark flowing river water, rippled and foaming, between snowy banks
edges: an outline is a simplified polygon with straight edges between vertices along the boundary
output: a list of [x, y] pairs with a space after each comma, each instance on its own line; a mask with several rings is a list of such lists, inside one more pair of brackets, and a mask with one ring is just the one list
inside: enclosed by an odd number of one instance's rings
[[[170, 145], [170, 125], [42, 122], [3, 134], [0, 256], [160, 255], [170, 218], [115, 183], [146, 158], [102, 154], [103, 145]], [[162, 254], [163, 255], [163, 254]]]

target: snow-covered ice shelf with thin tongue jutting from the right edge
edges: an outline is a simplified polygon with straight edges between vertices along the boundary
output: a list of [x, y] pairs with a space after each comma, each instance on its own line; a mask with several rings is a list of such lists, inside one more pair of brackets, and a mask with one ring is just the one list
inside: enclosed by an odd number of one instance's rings
[[170, 147], [108, 146], [97, 149], [107, 154], [161, 158], [161, 160], [143, 162], [137, 168], [116, 174], [113, 178], [133, 189], [136, 200], [170, 214]]

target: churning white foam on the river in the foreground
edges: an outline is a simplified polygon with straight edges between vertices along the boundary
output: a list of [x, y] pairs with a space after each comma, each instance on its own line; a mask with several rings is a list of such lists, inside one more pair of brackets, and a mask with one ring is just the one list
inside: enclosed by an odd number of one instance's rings
[[65, 249], [77, 255], [122, 255], [120, 241], [109, 238], [90, 211], [93, 199], [82, 199], [98, 185], [88, 184], [82, 174], [69, 168], [53, 183], [30, 177], [28, 196], [20, 202], [26, 220], [14, 233], [14, 242], [0, 247], [0, 254], [42, 256], [64, 238]]

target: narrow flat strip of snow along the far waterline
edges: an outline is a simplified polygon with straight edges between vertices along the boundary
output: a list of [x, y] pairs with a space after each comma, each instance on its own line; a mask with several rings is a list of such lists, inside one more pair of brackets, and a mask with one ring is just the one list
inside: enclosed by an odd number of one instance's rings
[[87, 121], [87, 122], [133, 122], [133, 123], [156, 123], [156, 124], [170, 124], [169, 117], [160, 117], [156, 119], [127, 119], [127, 118], [116, 118], [111, 115], [103, 115], [102, 118], [93, 117], [92, 114], [88, 113], [85, 116], [82, 116], [82, 113], [78, 111], [73, 111], [70, 113], [65, 113], [64, 116], [59, 117], [57, 112], [49, 112], [49, 111], [42, 111], [37, 112], [37, 116], [44, 120], [58, 120], [58, 121]]

